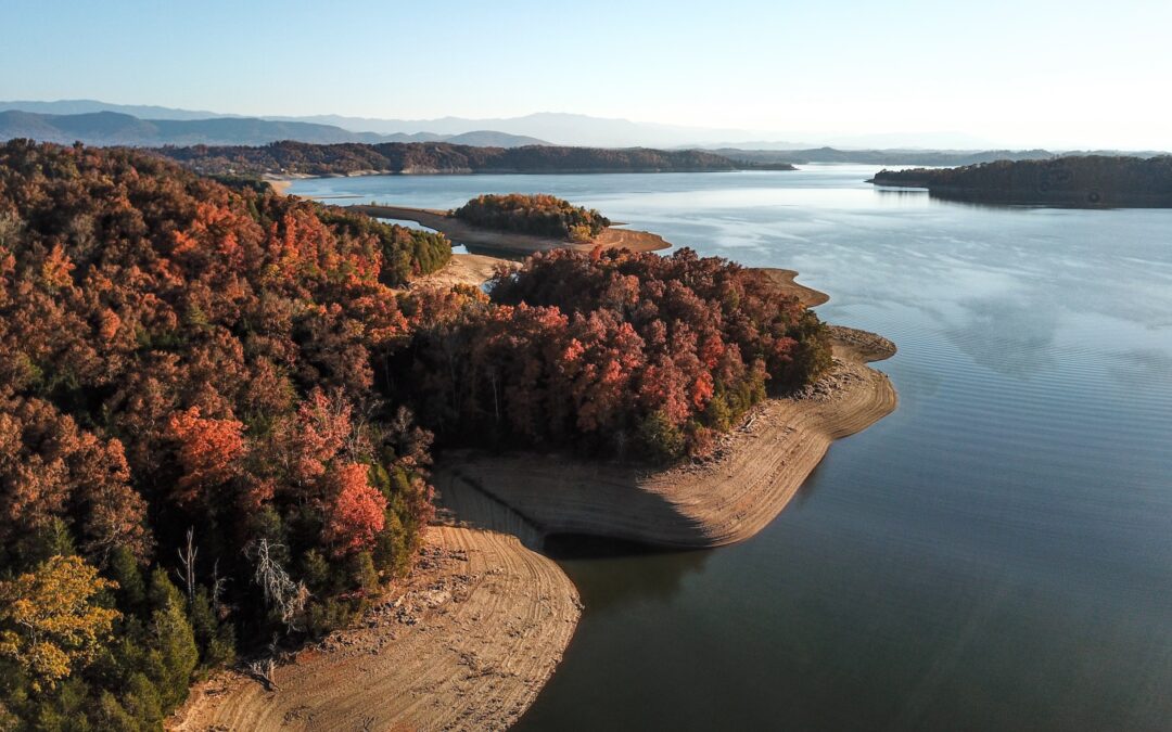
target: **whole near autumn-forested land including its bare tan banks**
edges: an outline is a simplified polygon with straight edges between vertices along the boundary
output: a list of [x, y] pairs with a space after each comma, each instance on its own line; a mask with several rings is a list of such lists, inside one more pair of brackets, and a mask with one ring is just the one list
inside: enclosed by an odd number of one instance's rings
[[0, 145], [0, 726], [506, 727], [582, 609], [545, 539], [748, 538], [895, 406], [790, 271], [473, 201], [558, 246]]

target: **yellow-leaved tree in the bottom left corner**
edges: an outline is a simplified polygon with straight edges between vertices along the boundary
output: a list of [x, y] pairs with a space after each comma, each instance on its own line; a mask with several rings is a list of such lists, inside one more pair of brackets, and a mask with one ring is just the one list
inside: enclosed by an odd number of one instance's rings
[[33, 687], [54, 686], [89, 663], [117, 610], [94, 596], [117, 584], [79, 556], [54, 556], [36, 570], [0, 582], [0, 656], [16, 661]]

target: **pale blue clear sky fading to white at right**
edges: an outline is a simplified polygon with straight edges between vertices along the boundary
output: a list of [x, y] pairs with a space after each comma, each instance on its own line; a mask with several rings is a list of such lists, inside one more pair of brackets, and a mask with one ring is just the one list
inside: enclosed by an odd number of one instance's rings
[[0, 100], [1172, 150], [1172, 0], [0, 0]]

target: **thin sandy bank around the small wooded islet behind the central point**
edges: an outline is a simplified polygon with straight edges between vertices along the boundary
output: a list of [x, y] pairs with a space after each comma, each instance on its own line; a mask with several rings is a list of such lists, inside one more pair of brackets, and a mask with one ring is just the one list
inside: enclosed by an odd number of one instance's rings
[[552, 237], [533, 237], [530, 234], [498, 232], [470, 226], [459, 219], [448, 216], [445, 211], [435, 208], [372, 206], [366, 204], [354, 205], [350, 208], [375, 218], [416, 221], [429, 228], [443, 232], [456, 244], [472, 245], [479, 248], [515, 254], [532, 254], [534, 252], [564, 248], [590, 252], [595, 245], [601, 245], [604, 248], [627, 248], [633, 252], [655, 252], [672, 246], [659, 234], [616, 228], [614, 226], [607, 227], [606, 231], [590, 244], [572, 244]]

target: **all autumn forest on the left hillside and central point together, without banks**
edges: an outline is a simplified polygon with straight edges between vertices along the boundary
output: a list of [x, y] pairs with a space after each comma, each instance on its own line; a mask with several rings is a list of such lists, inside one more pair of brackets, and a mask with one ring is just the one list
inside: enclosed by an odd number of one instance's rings
[[[156, 730], [413, 563], [434, 447], [702, 459], [830, 364], [766, 279], [450, 245], [143, 152], [0, 145], [0, 728]], [[248, 665], [255, 664], [255, 665]]]

